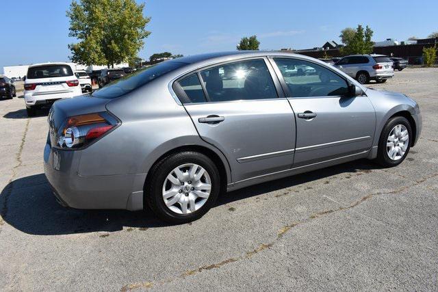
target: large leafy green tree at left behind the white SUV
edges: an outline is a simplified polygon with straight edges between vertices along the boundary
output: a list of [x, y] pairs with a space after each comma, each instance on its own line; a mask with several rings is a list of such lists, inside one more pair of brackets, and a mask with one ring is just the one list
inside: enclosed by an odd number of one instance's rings
[[79, 40], [69, 44], [73, 62], [107, 65], [129, 62], [137, 57], [150, 31], [151, 18], [143, 16], [144, 3], [135, 0], [73, 0], [66, 12], [70, 18], [68, 36]]

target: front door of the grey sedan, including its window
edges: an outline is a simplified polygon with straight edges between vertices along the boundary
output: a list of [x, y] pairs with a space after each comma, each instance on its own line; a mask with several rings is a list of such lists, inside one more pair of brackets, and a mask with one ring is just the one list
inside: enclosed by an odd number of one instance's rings
[[376, 115], [367, 96], [351, 96], [346, 79], [322, 64], [294, 58], [272, 63], [307, 65], [316, 72], [281, 79], [296, 118], [294, 167], [370, 150]]

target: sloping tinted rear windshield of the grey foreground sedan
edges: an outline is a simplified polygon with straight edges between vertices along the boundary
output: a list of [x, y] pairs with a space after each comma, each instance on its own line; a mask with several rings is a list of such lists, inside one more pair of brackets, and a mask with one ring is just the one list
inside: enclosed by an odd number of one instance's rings
[[96, 90], [93, 92], [92, 96], [100, 98], [116, 98], [185, 65], [187, 64], [180, 62], [162, 62], [148, 68], [140, 69], [133, 72], [131, 75], [110, 83], [110, 85], [104, 86], [100, 90]]

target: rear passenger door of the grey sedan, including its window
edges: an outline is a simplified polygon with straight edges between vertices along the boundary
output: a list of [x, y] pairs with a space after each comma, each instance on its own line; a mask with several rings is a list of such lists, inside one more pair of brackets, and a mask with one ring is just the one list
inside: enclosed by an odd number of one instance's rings
[[267, 59], [246, 59], [176, 83], [201, 138], [228, 158], [233, 182], [292, 167], [294, 114], [272, 73]]

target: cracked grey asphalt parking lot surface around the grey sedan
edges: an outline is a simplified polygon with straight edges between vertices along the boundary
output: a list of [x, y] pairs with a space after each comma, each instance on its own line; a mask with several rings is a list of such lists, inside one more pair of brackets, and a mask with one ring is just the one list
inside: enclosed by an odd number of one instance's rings
[[370, 87], [420, 104], [422, 135], [400, 166], [255, 185], [181, 226], [58, 205], [42, 168], [47, 111], [0, 101], [0, 289], [437, 290], [438, 68]]

